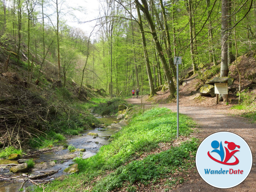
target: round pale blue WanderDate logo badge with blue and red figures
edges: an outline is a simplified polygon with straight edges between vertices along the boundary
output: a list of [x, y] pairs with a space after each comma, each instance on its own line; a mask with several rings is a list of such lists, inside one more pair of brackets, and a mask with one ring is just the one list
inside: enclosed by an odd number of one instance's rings
[[252, 151], [246, 141], [231, 132], [206, 137], [196, 152], [196, 168], [202, 179], [216, 188], [242, 183], [252, 168]]

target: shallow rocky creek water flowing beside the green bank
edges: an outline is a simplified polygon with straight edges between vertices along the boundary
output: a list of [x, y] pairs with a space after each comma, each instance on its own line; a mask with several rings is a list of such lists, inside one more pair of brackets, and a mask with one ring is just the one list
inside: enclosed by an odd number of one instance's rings
[[[114, 117], [102, 117], [98, 118], [101, 123], [105, 125], [110, 125], [113, 121], [116, 120]], [[35, 167], [32, 171], [28, 172], [30, 175], [43, 174], [39, 173], [39, 171], [49, 171], [49, 170], [61, 170], [54, 174], [54, 177], [49, 179], [53, 180], [54, 178], [60, 177], [63, 174], [64, 169], [66, 169], [70, 164], [73, 164], [73, 159], [75, 157], [82, 157], [84, 159], [89, 158], [96, 154], [96, 152], [100, 149], [101, 146], [107, 145], [109, 143], [108, 138], [114, 134], [114, 132], [118, 130], [118, 128], [95, 128], [93, 130], [87, 130], [79, 136], [72, 136], [64, 141], [68, 145], [73, 145], [77, 149], [85, 149], [85, 152], [74, 152], [70, 153], [68, 149], [63, 149], [63, 146], [59, 146], [57, 149], [43, 153], [38, 156], [30, 156], [29, 158], [33, 158], [35, 162]], [[97, 133], [99, 136], [93, 138], [91, 135], [87, 135], [88, 132]], [[1, 160], [0, 164], [18, 164], [17, 161], [10, 160]], [[0, 175], [9, 172], [8, 169], [0, 169]], [[14, 174], [12, 176], [19, 176], [21, 173]], [[21, 187], [22, 182], [18, 182], [15, 180], [0, 180], [0, 192], [17, 192]], [[23, 192], [26, 192], [26, 188], [31, 186], [30, 182], [26, 182], [23, 187]]]

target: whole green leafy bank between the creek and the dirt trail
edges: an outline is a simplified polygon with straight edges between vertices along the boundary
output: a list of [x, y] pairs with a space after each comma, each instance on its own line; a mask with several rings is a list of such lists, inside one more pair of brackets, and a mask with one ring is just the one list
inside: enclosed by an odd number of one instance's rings
[[[180, 135], [189, 136], [193, 126], [189, 117], [180, 115]], [[195, 139], [138, 160], [141, 154], [157, 148], [158, 143], [172, 142], [177, 134], [176, 128], [176, 113], [167, 108], [154, 108], [133, 117], [129, 125], [116, 133], [114, 140], [102, 146], [95, 156], [76, 158], [79, 174], [55, 180], [45, 191], [111, 191], [135, 182], [147, 184], [177, 170], [188, 169], [193, 166], [191, 158], [196, 152]], [[103, 177], [105, 174], [108, 175]], [[177, 178], [174, 181], [181, 182]]]

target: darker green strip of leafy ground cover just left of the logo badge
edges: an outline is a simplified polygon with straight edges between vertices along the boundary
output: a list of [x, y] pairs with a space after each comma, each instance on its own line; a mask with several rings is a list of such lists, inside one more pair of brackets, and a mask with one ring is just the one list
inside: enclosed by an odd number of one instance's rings
[[[123, 186], [124, 182], [130, 184], [141, 182], [147, 184], [149, 180], [165, 177], [176, 170], [186, 170], [191, 166], [190, 155], [195, 156], [197, 142], [195, 139], [182, 143], [179, 147], [149, 155], [143, 160], [135, 160], [117, 168], [104, 179], [97, 182], [93, 192], [111, 191]], [[192, 153], [191, 153], [192, 152]], [[180, 182], [181, 183], [181, 182]]]

